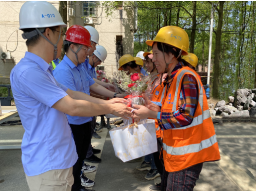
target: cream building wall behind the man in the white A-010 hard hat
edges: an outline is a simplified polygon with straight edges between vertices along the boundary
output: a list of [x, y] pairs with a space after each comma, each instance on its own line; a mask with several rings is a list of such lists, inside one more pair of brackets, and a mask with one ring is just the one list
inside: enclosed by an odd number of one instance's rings
[[[13, 60], [0, 60], [0, 75], [9, 75], [11, 69], [17, 64], [21, 58], [25, 56], [27, 51], [27, 46], [25, 40], [22, 38], [22, 31], [19, 30], [19, 11], [21, 6], [25, 2], [1, 2], [0, 1], [0, 53], [6, 52], [6, 43], [7, 49], [9, 51], [16, 50], [11, 53]], [[58, 2], [50, 2], [58, 10]], [[18, 37], [17, 37], [17, 32]], [[0, 78], [0, 84], [8, 82], [9, 79]]]

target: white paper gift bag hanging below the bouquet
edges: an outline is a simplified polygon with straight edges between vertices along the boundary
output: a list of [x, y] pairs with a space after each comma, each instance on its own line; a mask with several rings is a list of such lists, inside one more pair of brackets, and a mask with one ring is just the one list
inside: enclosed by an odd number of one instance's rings
[[121, 126], [109, 131], [117, 158], [123, 162], [157, 151], [155, 121], [141, 120], [136, 126]]

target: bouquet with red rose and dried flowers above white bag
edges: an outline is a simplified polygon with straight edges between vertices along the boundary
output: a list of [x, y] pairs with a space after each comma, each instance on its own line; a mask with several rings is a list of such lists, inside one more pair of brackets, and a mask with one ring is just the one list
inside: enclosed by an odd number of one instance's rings
[[150, 96], [151, 85], [149, 84], [150, 77], [140, 78], [138, 73], [127, 75], [127, 72], [118, 71], [114, 73], [112, 82], [117, 86], [120, 93], [124, 93], [127, 96], [127, 106], [133, 105], [145, 105], [145, 100], [142, 94]]

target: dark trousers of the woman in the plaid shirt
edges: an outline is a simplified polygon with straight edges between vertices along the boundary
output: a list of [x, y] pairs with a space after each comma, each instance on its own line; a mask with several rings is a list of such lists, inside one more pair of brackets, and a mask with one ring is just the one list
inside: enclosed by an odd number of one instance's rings
[[164, 169], [161, 191], [191, 191], [196, 186], [199, 174], [203, 168], [203, 163], [193, 165], [192, 167], [179, 172], [166, 172]]

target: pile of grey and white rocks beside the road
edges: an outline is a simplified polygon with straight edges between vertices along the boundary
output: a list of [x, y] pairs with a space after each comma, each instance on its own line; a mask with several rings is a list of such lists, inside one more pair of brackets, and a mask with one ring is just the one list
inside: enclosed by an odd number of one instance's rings
[[218, 101], [214, 106], [209, 105], [211, 117], [256, 117], [256, 88], [239, 89], [235, 92], [235, 96], [228, 97], [228, 103], [225, 100]]

